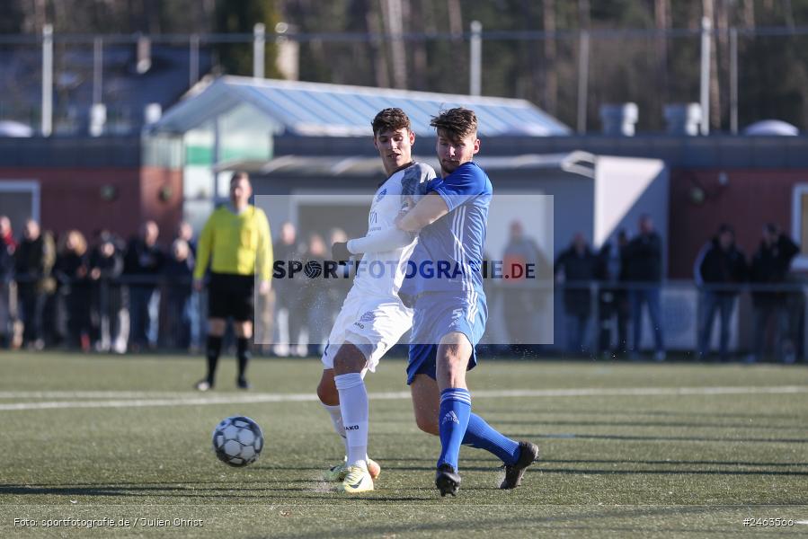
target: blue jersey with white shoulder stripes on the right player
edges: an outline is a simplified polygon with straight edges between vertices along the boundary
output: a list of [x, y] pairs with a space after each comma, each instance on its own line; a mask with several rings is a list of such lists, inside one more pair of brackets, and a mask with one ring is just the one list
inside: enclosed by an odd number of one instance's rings
[[418, 234], [401, 292], [457, 292], [484, 296], [483, 245], [491, 205], [491, 180], [476, 163], [463, 163], [428, 184], [446, 202], [448, 214]]

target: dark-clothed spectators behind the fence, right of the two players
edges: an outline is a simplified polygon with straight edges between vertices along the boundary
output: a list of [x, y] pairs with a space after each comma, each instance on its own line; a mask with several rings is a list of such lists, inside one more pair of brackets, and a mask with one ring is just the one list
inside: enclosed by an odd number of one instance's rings
[[[640, 217], [633, 238], [621, 230], [615, 242], [605, 243], [599, 252], [590, 249], [582, 234], [573, 237], [569, 248], [555, 261], [568, 352], [637, 358], [645, 310], [653, 331], [653, 358], [666, 358], [661, 316], [662, 252], [661, 237], [647, 215]], [[698, 253], [693, 269], [699, 295], [695, 350], [699, 359], [710, 357], [716, 315], [718, 358], [731, 358], [733, 312], [741, 293], [749, 290], [753, 337], [745, 360], [754, 363], [771, 351], [779, 361], [795, 362], [803, 340], [804, 292], [793, 282], [790, 267], [799, 252], [799, 246], [777, 225], [767, 224], [758, 249], [747, 258], [735, 243], [733, 227], [718, 228]], [[590, 339], [587, 328], [593, 311], [597, 311], [597, 334]]]

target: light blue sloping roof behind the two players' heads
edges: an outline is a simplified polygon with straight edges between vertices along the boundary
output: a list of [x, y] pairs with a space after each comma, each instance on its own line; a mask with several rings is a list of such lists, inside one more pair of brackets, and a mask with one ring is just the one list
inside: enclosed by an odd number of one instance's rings
[[411, 92], [344, 84], [304, 83], [223, 76], [203, 90], [191, 91], [154, 126], [155, 131], [186, 132], [212, 117], [246, 105], [263, 118], [273, 135], [362, 137], [370, 119], [387, 107], [404, 109], [418, 135], [431, 133], [439, 110], [474, 109], [483, 137], [560, 137], [572, 129], [520, 99], [450, 93]]

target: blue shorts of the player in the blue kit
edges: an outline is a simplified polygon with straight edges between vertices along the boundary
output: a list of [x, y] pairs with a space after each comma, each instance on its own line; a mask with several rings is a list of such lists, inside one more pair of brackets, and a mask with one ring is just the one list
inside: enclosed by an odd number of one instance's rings
[[413, 330], [410, 337], [410, 357], [407, 364], [407, 385], [415, 375], [437, 379], [438, 345], [445, 335], [460, 332], [472, 345], [468, 370], [477, 364], [475, 346], [483, 338], [488, 306], [484, 294], [469, 301], [457, 292], [427, 292], [418, 296], [413, 307]]

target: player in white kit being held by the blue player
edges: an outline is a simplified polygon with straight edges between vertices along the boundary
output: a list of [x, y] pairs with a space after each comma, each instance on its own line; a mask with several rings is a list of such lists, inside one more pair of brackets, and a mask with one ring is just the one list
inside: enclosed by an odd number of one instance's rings
[[348, 493], [373, 490], [380, 468], [368, 451], [368, 393], [364, 375], [375, 371], [384, 356], [413, 323], [398, 289], [413, 252], [415, 234], [398, 229], [395, 218], [428, 190], [436, 177], [431, 166], [414, 163], [415, 135], [401, 109], [381, 110], [373, 119], [373, 144], [384, 163], [387, 180], [379, 186], [368, 215], [368, 234], [335, 243], [332, 258], [347, 261], [364, 253], [353, 287], [342, 304], [323, 353], [323, 377], [317, 395], [345, 443], [346, 458], [329, 470], [327, 479], [342, 481]]

